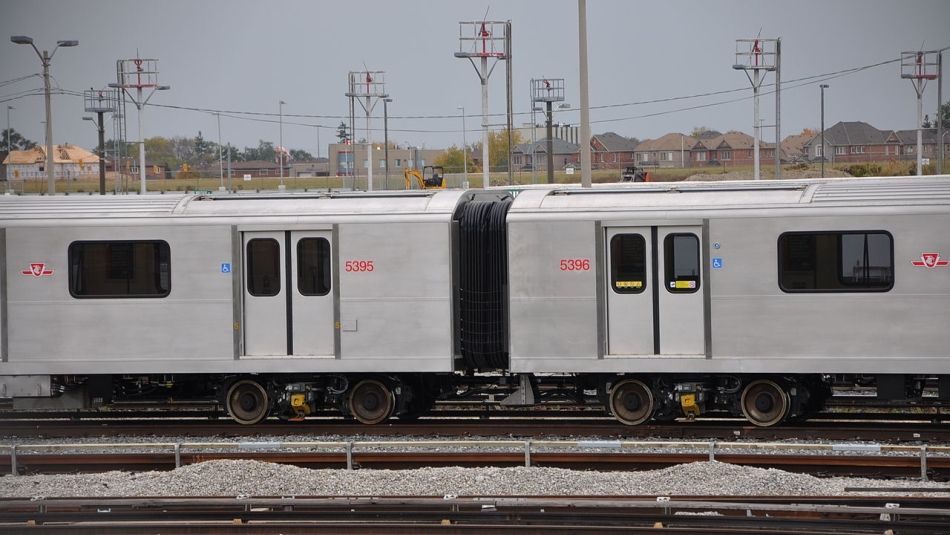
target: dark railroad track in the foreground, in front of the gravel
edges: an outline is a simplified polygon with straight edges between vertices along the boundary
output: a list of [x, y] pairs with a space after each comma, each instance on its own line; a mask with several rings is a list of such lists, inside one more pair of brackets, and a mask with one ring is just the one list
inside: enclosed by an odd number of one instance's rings
[[938, 533], [941, 498], [512, 496], [0, 499], [0, 532]]

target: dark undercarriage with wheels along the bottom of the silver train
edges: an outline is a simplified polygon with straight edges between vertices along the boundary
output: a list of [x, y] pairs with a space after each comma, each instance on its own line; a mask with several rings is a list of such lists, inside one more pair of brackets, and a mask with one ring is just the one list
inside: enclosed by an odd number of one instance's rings
[[54, 376], [50, 396], [14, 399], [15, 409], [84, 409], [116, 402], [217, 401], [237, 423], [303, 420], [318, 411], [373, 425], [415, 419], [437, 401], [502, 407], [553, 402], [590, 407], [626, 425], [700, 416], [742, 417], [756, 426], [804, 420], [834, 387], [874, 389], [873, 400], [920, 400], [926, 386], [950, 399], [950, 377], [912, 375], [332, 374]]

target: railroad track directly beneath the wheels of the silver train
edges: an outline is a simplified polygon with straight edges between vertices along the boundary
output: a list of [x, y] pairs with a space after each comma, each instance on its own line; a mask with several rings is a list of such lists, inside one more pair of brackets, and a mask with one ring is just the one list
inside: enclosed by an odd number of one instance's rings
[[[269, 420], [253, 427], [230, 420], [137, 418], [104, 420], [0, 420], [0, 436], [26, 438], [84, 438], [101, 436], [246, 437], [287, 435], [538, 438], [551, 435], [624, 439], [698, 440], [851, 440], [950, 442], [950, 424], [874, 421], [808, 421], [762, 428], [741, 420], [672, 422], [636, 427], [610, 418], [423, 418], [393, 420], [366, 426], [338, 418], [310, 418], [304, 422]], [[2, 443], [2, 441], [0, 441]]]

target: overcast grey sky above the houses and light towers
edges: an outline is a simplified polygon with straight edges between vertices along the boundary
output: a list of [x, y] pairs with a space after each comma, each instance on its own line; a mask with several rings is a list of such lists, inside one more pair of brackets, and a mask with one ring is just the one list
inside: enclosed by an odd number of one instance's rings
[[[151, 103], [228, 112], [273, 114], [253, 121], [222, 116], [222, 142], [256, 146], [277, 142], [278, 102], [284, 100], [284, 145], [316, 153], [333, 140], [340, 117], [348, 113], [347, 72], [386, 72], [390, 140], [441, 148], [460, 145], [458, 106], [469, 116], [468, 141], [476, 139], [481, 113], [478, 78], [468, 60], [458, 59], [461, 20], [511, 20], [514, 110], [520, 125], [529, 120], [531, 78], [564, 78], [566, 102], [573, 110], [556, 121], [579, 121], [577, 2], [519, 0], [337, 1], [186, 1], [186, 0], [3, 0], [0, 3], [0, 112], [7, 105], [11, 126], [43, 143], [43, 97], [22, 95], [42, 89], [42, 78], [10, 80], [42, 72], [28, 45], [12, 35], [32, 37], [38, 48], [78, 39], [61, 48], [52, 63], [54, 87], [81, 91], [115, 82], [120, 58], [157, 58], [160, 82], [170, 91]], [[732, 69], [735, 40], [782, 38], [782, 133], [819, 124], [820, 79], [791, 80], [872, 65], [898, 58], [902, 50], [950, 46], [950, 1], [799, 0], [788, 1], [623, 1], [589, 0], [592, 131], [615, 131], [640, 139], [667, 132], [688, 133], [695, 126], [750, 132], [751, 99], [676, 111], [751, 97], [745, 75]], [[869, 68], [824, 83], [826, 126], [839, 120], [867, 121], [881, 129], [914, 127], [916, 101], [911, 83], [901, 80], [899, 64]], [[773, 81], [771, 75], [766, 82]], [[799, 86], [799, 87], [796, 87]], [[492, 74], [490, 111], [505, 111], [505, 71]], [[741, 93], [689, 98], [668, 97], [744, 89]], [[925, 110], [936, 108], [936, 83], [927, 87]], [[944, 100], [950, 99], [945, 90]], [[597, 106], [609, 106], [597, 109]], [[774, 122], [774, 100], [761, 99], [764, 124]], [[95, 131], [83, 122], [82, 99], [53, 97], [53, 137], [92, 147]], [[298, 115], [298, 117], [295, 117]], [[309, 117], [300, 117], [309, 116]], [[373, 138], [382, 140], [382, 106], [374, 116]], [[433, 117], [436, 116], [436, 117]], [[439, 118], [438, 116], [449, 116]], [[540, 120], [540, 119], [539, 119]], [[0, 125], [6, 127], [5, 114]], [[272, 122], [269, 122], [272, 121]], [[503, 123], [503, 117], [492, 117]], [[313, 125], [301, 126], [300, 124]], [[365, 136], [357, 121], [357, 137]], [[207, 112], [149, 106], [145, 136], [217, 138], [215, 116]], [[106, 136], [112, 136], [111, 121]], [[134, 108], [129, 138], [137, 136]], [[764, 131], [766, 140], [774, 139]]]

